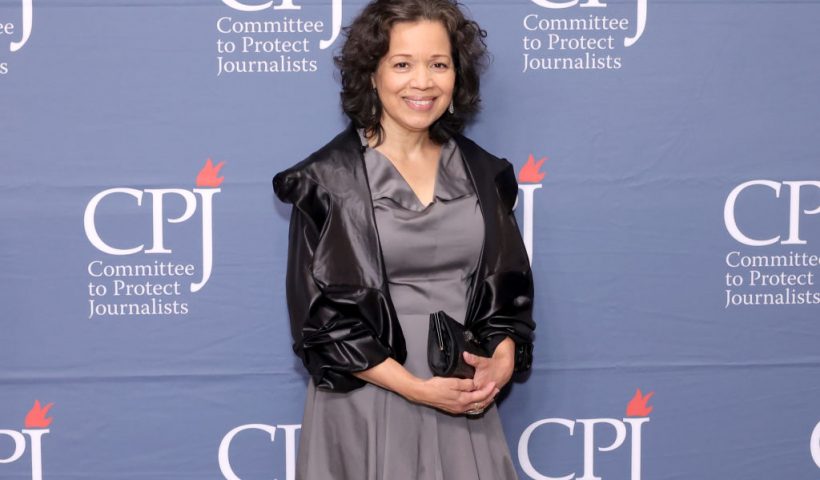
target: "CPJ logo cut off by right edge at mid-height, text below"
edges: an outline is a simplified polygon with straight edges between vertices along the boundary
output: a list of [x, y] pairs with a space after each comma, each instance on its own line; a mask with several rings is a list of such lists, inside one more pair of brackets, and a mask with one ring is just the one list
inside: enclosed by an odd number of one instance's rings
[[807, 232], [817, 231], [808, 216], [818, 213], [816, 180], [749, 180], [729, 192], [723, 221], [739, 245], [725, 257], [725, 308], [820, 303], [814, 276], [820, 256], [807, 251]]

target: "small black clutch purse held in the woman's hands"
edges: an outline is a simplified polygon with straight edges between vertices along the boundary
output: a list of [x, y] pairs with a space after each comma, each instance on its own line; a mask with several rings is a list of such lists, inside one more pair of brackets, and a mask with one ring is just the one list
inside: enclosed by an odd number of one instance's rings
[[464, 361], [464, 352], [488, 357], [473, 332], [439, 310], [430, 314], [427, 334], [427, 362], [437, 377], [473, 378], [475, 368]]

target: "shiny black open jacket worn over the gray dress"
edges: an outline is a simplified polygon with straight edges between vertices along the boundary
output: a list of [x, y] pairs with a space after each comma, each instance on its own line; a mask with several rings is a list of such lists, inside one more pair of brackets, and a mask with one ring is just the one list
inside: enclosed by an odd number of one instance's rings
[[[462, 135], [454, 139], [484, 216], [484, 244], [466, 325], [492, 352], [516, 344], [515, 368], [532, 363], [533, 285], [512, 212], [518, 184], [512, 165]], [[390, 300], [363, 147], [351, 125], [298, 164], [276, 174], [273, 189], [293, 204], [287, 303], [293, 350], [317, 387], [340, 392], [364, 385], [350, 372], [407, 352]]]

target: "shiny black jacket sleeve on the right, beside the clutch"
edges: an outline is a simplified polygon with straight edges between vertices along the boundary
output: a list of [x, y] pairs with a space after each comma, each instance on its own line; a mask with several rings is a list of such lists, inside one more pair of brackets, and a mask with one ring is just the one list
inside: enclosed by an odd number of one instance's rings
[[499, 195], [498, 225], [503, 248], [502, 260], [507, 268], [490, 275], [484, 282], [479, 311], [486, 312], [474, 323], [474, 331], [489, 352], [494, 352], [504, 338], [515, 342], [515, 371], [528, 370], [532, 365], [533, 280], [529, 257], [521, 238], [513, 206], [518, 195], [518, 182], [512, 164], [506, 162], [496, 177]]

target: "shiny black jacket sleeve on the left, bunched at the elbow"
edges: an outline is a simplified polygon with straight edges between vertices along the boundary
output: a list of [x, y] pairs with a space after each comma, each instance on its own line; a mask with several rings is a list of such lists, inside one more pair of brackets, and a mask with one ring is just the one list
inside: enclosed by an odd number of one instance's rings
[[351, 372], [378, 365], [390, 352], [375, 338], [359, 308], [371, 292], [315, 281], [313, 259], [329, 200], [315, 191], [315, 185], [305, 183], [309, 182], [286, 174], [273, 182], [277, 196], [293, 204], [285, 282], [293, 350], [318, 388], [346, 392], [365, 384]]

